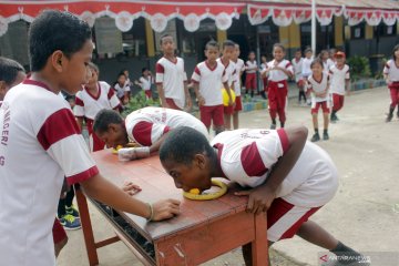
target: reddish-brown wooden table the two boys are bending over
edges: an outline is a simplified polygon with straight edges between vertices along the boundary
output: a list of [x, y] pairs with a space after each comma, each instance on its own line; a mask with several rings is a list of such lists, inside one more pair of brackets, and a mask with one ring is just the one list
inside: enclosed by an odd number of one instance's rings
[[252, 243], [253, 265], [267, 265], [267, 237], [265, 215], [245, 212], [247, 197], [234, 196], [238, 190], [229, 184], [226, 195], [214, 201], [191, 201], [182, 195], [171, 176], [163, 170], [160, 158], [119, 162], [110, 150], [93, 153], [100, 173], [117, 186], [132, 181], [143, 191], [135, 195], [144, 202], [162, 198], [182, 201], [181, 215], [164, 222], [150, 222], [145, 218], [117, 212], [99, 204], [101, 213], [115, 228], [116, 236], [94, 242], [88, 203], [78, 188], [81, 223], [90, 265], [98, 265], [96, 249], [116, 241], [122, 241], [144, 265], [198, 265]]

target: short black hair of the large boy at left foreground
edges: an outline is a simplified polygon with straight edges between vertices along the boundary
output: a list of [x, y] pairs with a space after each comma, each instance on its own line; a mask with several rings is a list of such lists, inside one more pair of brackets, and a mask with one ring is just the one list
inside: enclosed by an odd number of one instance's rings
[[57, 50], [70, 58], [81, 50], [91, 37], [89, 24], [76, 16], [58, 10], [43, 11], [29, 29], [31, 70], [42, 70], [49, 57]]

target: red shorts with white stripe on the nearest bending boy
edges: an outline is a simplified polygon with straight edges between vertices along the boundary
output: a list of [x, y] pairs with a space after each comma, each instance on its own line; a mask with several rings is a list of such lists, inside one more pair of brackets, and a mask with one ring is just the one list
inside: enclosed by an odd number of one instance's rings
[[267, 209], [267, 239], [278, 242], [291, 238], [320, 207], [298, 207], [280, 197], [274, 200]]

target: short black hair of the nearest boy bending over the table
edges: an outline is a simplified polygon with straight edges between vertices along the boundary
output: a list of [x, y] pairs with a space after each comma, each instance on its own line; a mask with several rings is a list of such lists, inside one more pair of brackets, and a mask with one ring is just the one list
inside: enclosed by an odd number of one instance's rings
[[180, 126], [171, 131], [160, 147], [160, 160], [173, 160], [176, 163], [191, 165], [196, 154], [214, 156], [214, 149], [198, 131]]

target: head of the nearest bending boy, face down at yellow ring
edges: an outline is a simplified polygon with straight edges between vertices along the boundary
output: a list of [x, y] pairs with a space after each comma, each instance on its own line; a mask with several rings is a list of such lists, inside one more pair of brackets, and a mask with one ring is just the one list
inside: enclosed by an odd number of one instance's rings
[[212, 165], [217, 155], [198, 131], [187, 126], [171, 131], [161, 145], [160, 160], [177, 188], [185, 192], [211, 188]]

